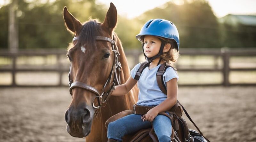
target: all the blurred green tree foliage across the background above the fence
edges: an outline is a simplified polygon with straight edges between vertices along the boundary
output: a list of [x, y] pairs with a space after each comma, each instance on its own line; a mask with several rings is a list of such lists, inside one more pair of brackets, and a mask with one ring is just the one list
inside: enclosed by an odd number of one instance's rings
[[[64, 6], [67, 6], [68, 10], [81, 22], [87, 21], [90, 17], [103, 22], [108, 10], [108, 6], [96, 4], [95, 0], [56, 0], [45, 4], [40, 0], [30, 3], [19, 0], [16, 10], [19, 48], [67, 48], [73, 35], [67, 32], [64, 25], [62, 17]], [[119, 15], [115, 32], [124, 48], [140, 48], [141, 44], [135, 36], [140, 33], [144, 23], [156, 18], [170, 20], [177, 26], [181, 49], [256, 46], [255, 40], [249, 42], [247, 40], [255, 37], [255, 32], [249, 30], [253, 27], [246, 28], [245, 31], [249, 34], [232, 32], [233, 27], [219, 24], [208, 2], [190, 0], [182, 5], [168, 2], [134, 19]], [[8, 5], [0, 8], [0, 27], [0, 48], [7, 48]], [[243, 29], [242, 25], [235, 31]]]

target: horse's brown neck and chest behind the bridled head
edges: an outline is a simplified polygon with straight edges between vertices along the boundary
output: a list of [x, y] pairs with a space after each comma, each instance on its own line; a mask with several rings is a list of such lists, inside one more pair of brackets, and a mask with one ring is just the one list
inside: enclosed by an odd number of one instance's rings
[[[120, 63], [122, 66], [120, 78], [121, 84], [124, 84], [130, 77], [130, 69], [124, 49], [121, 45], [121, 41], [116, 36], [116, 43], [118, 51], [120, 53]], [[86, 141], [107, 141], [107, 129], [105, 128], [105, 122], [107, 119], [121, 111], [132, 109], [132, 105], [138, 100], [138, 88], [133, 87], [132, 90], [124, 96], [111, 96], [104, 108], [97, 110], [95, 118], [92, 123], [92, 129], [90, 135], [86, 137]]]

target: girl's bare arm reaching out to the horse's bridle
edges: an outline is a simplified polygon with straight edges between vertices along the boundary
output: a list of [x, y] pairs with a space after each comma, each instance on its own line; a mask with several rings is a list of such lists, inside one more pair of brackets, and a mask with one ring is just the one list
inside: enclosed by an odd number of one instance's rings
[[116, 89], [111, 94], [112, 96], [122, 96], [127, 94], [133, 86], [135, 86], [137, 80], [133, 79], [131, 76], [130, 78], [122, 85], [116, 86]]

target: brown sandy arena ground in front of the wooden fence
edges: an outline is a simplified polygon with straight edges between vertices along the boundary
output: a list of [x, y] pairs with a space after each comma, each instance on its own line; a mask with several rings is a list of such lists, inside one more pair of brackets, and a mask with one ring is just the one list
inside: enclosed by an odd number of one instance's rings
[[[66, 131], [68, 87], [0, 90], [0, 142], [85, 141]], [[256, 141], [255, 86], [179, 87], [178, 100], [211, 142]]]

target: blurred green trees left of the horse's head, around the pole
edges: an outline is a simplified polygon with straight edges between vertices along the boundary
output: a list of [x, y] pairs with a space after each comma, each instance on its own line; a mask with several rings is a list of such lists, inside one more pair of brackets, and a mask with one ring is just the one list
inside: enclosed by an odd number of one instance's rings
[[[95, 4], [95, 0], [56, 0], [54, 3], [42, 4], [36, 0], [27, 3], [19, 0], [16, 11], [19, 26], [19, 48], [67, 48], [72, 41], [64, 25], [62, 11], [64, 6], [81, 22], [87, 21], [90, 16], [105, 17], [106, 9], [103, 5]], [[0, 9], [0, 25], [4, 27], [0, 34], [0, 48], [7, 48], [8, 33], [8, 5]], [[95, 17], [94, 17], [95, 16]]]

